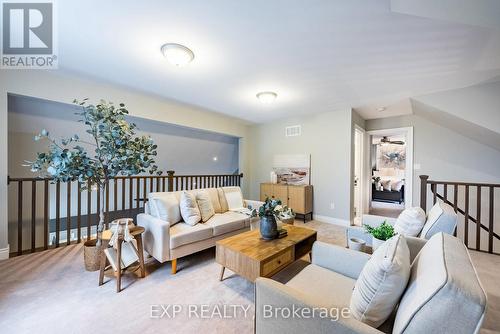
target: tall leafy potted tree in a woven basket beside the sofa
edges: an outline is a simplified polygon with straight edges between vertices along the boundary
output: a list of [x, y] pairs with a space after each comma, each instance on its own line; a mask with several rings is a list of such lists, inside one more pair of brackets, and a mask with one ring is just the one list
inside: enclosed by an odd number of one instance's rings
[[27, 161], [32, 172], [52, 178], [53, 182], [78, 181], [81, 190], [101, 192], [97, 239], [88, 240], [84, 247], [87, 270], [99, 269], [102, 232], [104, 230], [104, 198], [106, 184], [118, 175], [136, 175], [146, 171], [158, 173], [154, 157], [157, 146], [148, 136], [137, 136], [136, 125], [126, 120], [128, 110], [123, 103], [118, 107], [101, 100], [99, 104], [73, 101], [81, 107], [77, 112], [86, 126], [85, 139], [73, 135], [56, 140], [42, 130], [35, 140], [47, 140], [48, 151], [37, 153], [35, 161]]

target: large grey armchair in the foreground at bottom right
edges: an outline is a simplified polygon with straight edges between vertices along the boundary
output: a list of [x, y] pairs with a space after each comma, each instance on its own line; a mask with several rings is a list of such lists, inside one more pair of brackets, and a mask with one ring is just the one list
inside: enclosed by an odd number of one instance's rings
[[410, 280], [393, 315], [379, 328], [349, 315], [337, 319], [332, 314], [300, 317], [275, 312], [349, 308], [356, 279], [370, 256], [316, 242], [312, 264], [286, 284], [257, 279], [256, 333], [477, 333], [486, 311], [486, 294], [462, 241], [444, 233], [428, 241], [407, 241], [413, 260]]

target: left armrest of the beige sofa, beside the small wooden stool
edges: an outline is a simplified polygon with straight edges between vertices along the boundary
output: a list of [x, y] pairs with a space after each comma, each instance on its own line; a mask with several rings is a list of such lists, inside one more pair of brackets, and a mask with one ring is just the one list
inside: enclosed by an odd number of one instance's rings
[[146, 213], [137, 215], [137, 225], [144, 227], [144, 250], [160, 262], [170, 260], [170, 223]]

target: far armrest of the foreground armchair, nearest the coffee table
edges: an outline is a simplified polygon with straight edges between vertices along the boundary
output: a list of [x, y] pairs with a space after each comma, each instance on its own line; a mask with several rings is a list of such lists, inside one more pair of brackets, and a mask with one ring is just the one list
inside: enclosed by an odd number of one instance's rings
[[336, 245], [316, 241], [312, 248], [312, 263], [357, 279], [370, 255]]

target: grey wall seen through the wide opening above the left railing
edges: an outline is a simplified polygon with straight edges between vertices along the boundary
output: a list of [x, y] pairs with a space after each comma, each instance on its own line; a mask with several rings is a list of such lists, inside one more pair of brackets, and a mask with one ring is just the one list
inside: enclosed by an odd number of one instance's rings
[[[32, 137], [45, 128], [56, 137], [78, 134], [85, 137], [85, 126], [78, 122], [73, 105], [47, 100], [9, 96], [9, 175], [30, 176], [21, 167], [44, 148]], [[139, 135], [150, 135], [158, 145], [158, 166], [177, 174], [231, 174], [238, 171], [238, 138], [208, 131], [129, 118]], [[82, 135], [83, 134], [83, 135]], [[216, 160], [214, 160], [216, 158]]]

